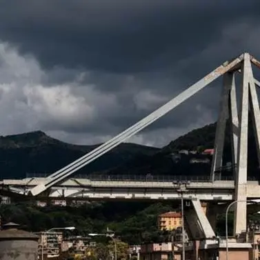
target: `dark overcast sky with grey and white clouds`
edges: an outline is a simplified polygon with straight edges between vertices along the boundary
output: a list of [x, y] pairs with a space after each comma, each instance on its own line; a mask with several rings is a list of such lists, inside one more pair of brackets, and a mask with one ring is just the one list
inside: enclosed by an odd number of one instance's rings
[[[259, 0], [0, 1], [0, 134], [106, 141], [205, 74], [260, 58]], [[164, 146], [217, 119], [221, 81], [130, 141]]]

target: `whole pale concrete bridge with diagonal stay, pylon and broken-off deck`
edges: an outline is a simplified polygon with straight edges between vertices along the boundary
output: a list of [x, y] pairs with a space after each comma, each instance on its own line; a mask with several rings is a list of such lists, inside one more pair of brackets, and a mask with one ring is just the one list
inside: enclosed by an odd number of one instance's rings
[[[201, 80], [181, 92], [141, 121], [103, 143], [88, 154], [45, 178], [1, 181], [1, 192], [12, 192], [24, 198], [81, 198], [81, 199], [186, 199], [191, 207], [185, 218], [193, 239], [214, 239], [216, 208], [218, 201], [237, 201], [234, 205], [234, 234], [243, 234], [247, 229], [247, 200], [259, 199], [258, 181], [248, 180], [248, 117], [252, 117], [257, 158], [260, 166], [260, 110], [257, 87], [252, 68], [260, 68], [260, 62], [247, 52], [226, 61]], [[98, 159], [126, 139], [148, 127], [164, 114], [179, 106], [192, 95], [206, 88], [212, 81], [223, 76], [219, 118], [214, 142], [214, 154], [210, 176], [205, 181], [179, 179], [90, 179], [76, 178], [74, 172]], [[236, 79], [241, 81], [236, 85]], [[239, 100], [238, 100], [239, 97]], [[239, 109], [237, 103], [239, 101]], [[222, 180], [223, 146], [226, 125], [230, 123], [232, 143], [231, 180]], [[201, 201], [208, 201], [207, 215]]]

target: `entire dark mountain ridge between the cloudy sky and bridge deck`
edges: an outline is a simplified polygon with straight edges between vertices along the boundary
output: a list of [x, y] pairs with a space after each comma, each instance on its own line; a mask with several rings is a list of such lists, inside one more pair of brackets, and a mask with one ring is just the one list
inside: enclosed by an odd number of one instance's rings
[[[172, 154], [178, 150], [197, 150], [213, 148], [216, 123], [198, 128], [171, 141], [161, 149], [141, 146], [135, 143], [122, 143], [104, 154], [77, 174], [125, 174], [125, 175], [194, 175], [205, 176], [210, 173], [212, 157], [208, 155], [183, 154], [176, 163]], [[68, 163], [90, 152], [100, 144], [78, 146], [65, 143], [44, 132], [35, 131], [0, 137], [0, 179], [24, 178], [26, 173], [51, 174]], [[252, 127], [249, 127], [248, 174], [257, 175], [257, 152]], [[191, 163], [199, 161], [201, 163]], [[204, 161], [204, 163], [202, 163]], [[205, 163], [207, 162], [208, 163]], [[226, 143], [223, 162], [231, 161], [230, 130], [226, 128]]]

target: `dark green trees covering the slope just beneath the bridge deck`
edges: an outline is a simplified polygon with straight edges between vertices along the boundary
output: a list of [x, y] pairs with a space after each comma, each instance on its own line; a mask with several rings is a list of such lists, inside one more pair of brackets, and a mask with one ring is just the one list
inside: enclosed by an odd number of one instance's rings
[[[157, 217], [163, 212], [178, 210], [179, 203], [88, 203], [77, 208], [49, 206], [39, 208], [28, 204], [1, 205], [3, 223], [13, 221], [28, 231], [48, 230], [53, 227], [75, 226], [75, 235], [88, 236], [89, 233], [106, 233], [106, 228], [114, 230], [117, 237], [128, 244], [161, 243], [169, 241], [171, 232], [161, 231]], [[259, 214], [250, 219], [260, 221]], [[219, 214], [217, 234], [225, 235], [225, 216]], [[229, 233], [232, 234], [232, 214], [228, 216]], [[67, 231], [66, 234], [71, 234]]]

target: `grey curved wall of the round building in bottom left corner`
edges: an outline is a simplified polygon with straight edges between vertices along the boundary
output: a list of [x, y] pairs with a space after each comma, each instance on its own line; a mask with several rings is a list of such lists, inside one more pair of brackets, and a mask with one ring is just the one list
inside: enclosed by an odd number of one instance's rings
[[37, 260], [38, 241], [0, 241], [0, 260]]

